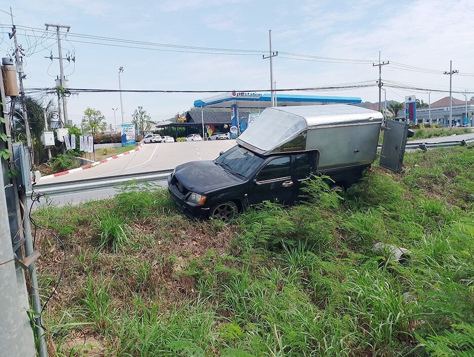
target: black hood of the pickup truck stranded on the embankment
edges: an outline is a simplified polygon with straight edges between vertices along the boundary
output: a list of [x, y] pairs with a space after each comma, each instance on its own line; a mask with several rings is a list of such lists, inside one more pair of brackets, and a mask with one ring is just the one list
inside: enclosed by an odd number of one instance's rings
[[192, 161], [176, 167], [176, 178], [188, 190], [205, 193], [242, 183], [212, 161]]

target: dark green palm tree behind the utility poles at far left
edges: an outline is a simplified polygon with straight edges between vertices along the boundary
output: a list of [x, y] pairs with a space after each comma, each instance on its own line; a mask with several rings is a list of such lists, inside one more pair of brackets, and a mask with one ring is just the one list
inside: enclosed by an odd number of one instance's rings
[[[45, 130], [45, 110], [46, 120], [50, 126], [53, 118], [58, 116], [57, 108], [52, 100], [50, 100], [46, 106], [44, 106], [39, 100], [32, 97], [25, 97], [24, 101], [26, 112], [28, 114], [28, 124], [31, 132], [33, 160], [35, 164], [41, 164], [45, 162], [46, 159], [43, 143], [41, 142], [41, 135]], [[14, 134], [15, 140], [26, 141], [23, 107], [20, 101], [18, 101], [15, 105]]]

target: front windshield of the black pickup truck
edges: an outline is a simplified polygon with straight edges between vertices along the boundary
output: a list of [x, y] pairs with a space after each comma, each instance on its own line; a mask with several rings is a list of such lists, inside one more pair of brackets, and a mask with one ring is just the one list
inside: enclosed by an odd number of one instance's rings
[[241, 146], [234, 146], [214, 161], [224, 164], [233, 172], [249, 177], [265, 160]]

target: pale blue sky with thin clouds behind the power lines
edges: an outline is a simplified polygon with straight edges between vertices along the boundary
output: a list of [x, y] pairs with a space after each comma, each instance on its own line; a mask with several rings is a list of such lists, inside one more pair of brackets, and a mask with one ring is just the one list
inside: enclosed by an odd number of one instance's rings
[[[64, 62], [69, 88], [117, 90], [119, 67], [123, 66], [123, 90], [268, 92], [269, 61], [262, 55], [268, 55], [271, 29], [273, 51], [279, 52], [273, 58], [277, 89], [375, 83], [378, 67], [372, 63], [378, 62], [380, 51], [382, 61], [390, 62], [382, 67], [386, 85], [448, 91], [449, 75], [443, 71], [449, 71], [452, 60], [453, 69], [459, 70], [453, 75], [453, 91], [470, 91], [468, 99], [474, 95], [472, 0], [22, 0], [10, 5], [18, 42], [26, 54], [26, 89], [55, 86], [59, 62], [45, 58], [51, 54], [58, 57], [56, 32], [45, 29], [45, 23], [55, 23], [70, 26], [70, 34], [61, 32], [63, 57], [75, 57], [75, 63]], [[3, 6], [0, 10], [4, 11], [0, 12], [0, 54], [6, 57], [12, 55], [13, 48], [8, 35], [11, 18], [5, 13], [10, 9]], [[246, 52], [189, 53], [209, 51], [107, 42], [73, 34]], [[146, 49], [120, 47], [124, 45]], [[428, 102], [426, 91], [383, 88], [387, 100], [403, 101], [415, 94]], [[288, 93], [378, 101], [377, 87]], [[153, 121], [163, 121], [191, 108], [194, 100], [212, 95], [123, 93], [125, 122], [138, 106], [143, 106]], [[446, 95], [432, 92], [429, 98], [433, 102]], [[36, 96], [45, 99], [44, 95]], [[464, 94], [453, 96], [464, 99]], [[382, 91], [382, 101], [383, 97]], [[87, 107], [101, 110], [110, 124], [114, 123], [112, 108], [119, 108], [116, 123], [121, 122], [118, 93], [69, 97], [68, 114], [74, 124], [80, 124]]]

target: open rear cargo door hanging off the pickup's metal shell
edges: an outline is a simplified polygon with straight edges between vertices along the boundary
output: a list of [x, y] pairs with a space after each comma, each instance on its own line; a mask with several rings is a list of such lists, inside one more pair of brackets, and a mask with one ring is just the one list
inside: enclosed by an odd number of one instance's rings
[[402, 172], [403, 155], [407, 143], [408, 124], [387, 120], [382, 127], [383, 142], [380, 153], [380, 166], [397, 174]]

